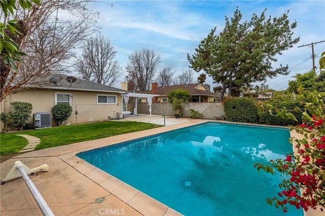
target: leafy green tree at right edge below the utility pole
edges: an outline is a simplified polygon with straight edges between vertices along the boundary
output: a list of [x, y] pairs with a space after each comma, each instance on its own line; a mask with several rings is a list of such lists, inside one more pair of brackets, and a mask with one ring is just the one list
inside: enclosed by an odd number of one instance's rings
[[320, 70], [317, 76], [314, 70], [301, 75], [295, 76], [295, 81], [289, 81], [289, 87], [287, 89], [290, 93], [298, 94], [299, 89], [305, 89], [309, 91], [325, 92], [325, 71]]

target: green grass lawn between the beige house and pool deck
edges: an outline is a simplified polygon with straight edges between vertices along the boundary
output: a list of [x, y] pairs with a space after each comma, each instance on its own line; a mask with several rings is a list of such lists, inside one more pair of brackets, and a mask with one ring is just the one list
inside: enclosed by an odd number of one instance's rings
[[16, 136], [16, 134], [28, 134], [39, 137], [41, 143], [35, 148], [36, 150], [39, 150], [156, 127], [160, 127], [160, 125], [143, 122], [105, 121], [39, 130], [2, 133], [0, 140], [0, 154], [15, 154], [27, 145], [27, 140], [23, 137]]

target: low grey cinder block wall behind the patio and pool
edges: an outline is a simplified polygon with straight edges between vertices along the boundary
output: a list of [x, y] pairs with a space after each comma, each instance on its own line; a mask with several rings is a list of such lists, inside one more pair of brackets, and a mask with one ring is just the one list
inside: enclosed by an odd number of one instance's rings
[[[214, 119], [214, 116], [224, 116], [223, 104], [221, 102], [217, 103], [207, 103], [207, 102], [190, 102], [186, 103], [183, 111], [184, 118], [190, 118], [191, 114], [189, 109], [195, 109], [196, 111], [202, 113], [203, 115], [198, 116], [200, 119]], [[152, 103], [151, 114], [152, 115], [164, 115], [173, 116], [173, 107], [171, 103]], [[138, 103], [138, 113], [139, 114], [149, 114], [148, 103]]]

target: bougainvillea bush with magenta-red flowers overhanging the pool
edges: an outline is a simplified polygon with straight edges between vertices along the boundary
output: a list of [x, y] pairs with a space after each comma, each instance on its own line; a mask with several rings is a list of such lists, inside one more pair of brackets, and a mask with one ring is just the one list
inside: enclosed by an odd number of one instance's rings
[[[325, 207], [325, 105], [324, 95], [317, 92], [304, 92], [304, 109], [296, 108], [302, 112], [303, 124], [290, 127], [296, 130], [299, 137], [290, 138], [295, 154], [289, 154], [285, 159], [270, 161], [269, 164], [255, 164], [257, 170], [263, 169], [271, 174], [281, 172], [289, 177], [279, 184], [280, 191], [267, 202], [287, 212], [287, 205], [303, 208]], [[282, 118], [297, 120], [294, 115], [285, 109], [275, 110]]]

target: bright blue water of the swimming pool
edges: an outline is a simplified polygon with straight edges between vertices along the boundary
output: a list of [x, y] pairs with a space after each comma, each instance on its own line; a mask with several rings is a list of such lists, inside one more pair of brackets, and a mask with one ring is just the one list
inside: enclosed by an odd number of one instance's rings
[[284, 176], [253, 167], [292, 152], [289, 136], [209, 122], [77, 156], [185, 215], [303, 215], [267, 204]]

